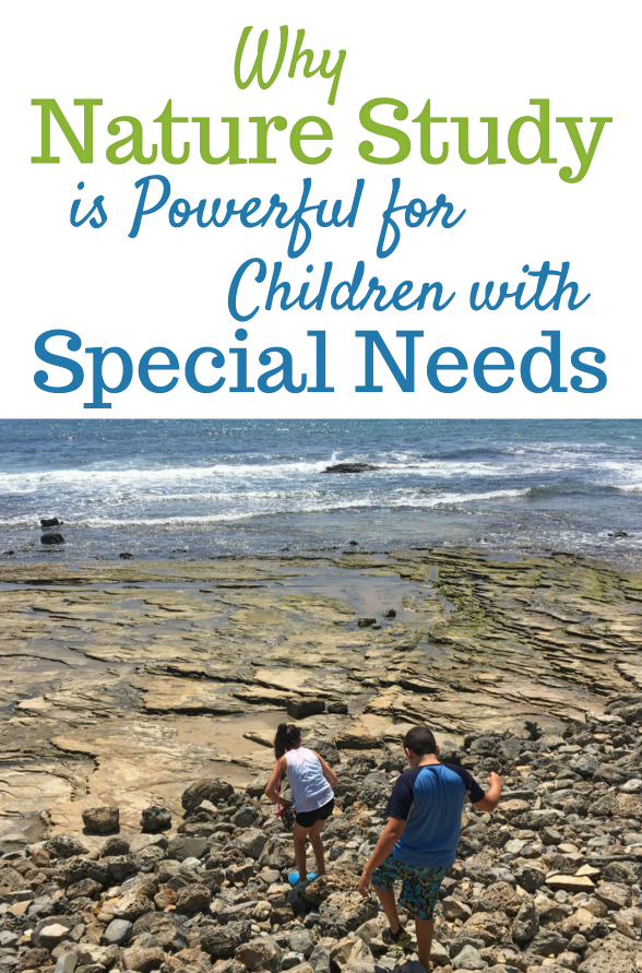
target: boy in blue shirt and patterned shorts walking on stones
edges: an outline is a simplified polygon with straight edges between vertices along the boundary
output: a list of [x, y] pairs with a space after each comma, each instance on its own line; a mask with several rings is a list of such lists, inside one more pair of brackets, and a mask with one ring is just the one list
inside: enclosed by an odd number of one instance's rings
[[439, 747], [427, 726], [408, 731], [403, 747], [411, 769], [392, 788], [388, 823], [364, 868], [359, 892], [367, 895], [372, 882], [390, 923], [383, 941], [407, 949], [412, 937], [400, 923], [393, 888], [395, 881], [403, 882], [399, 901], [415, 917], [419, 963], [429, 970], [432, 913], [441, 880], [454, 864], [464, 799], [468, 796], [479, 810], [492, 812], [502, 780], [488, 774], [490, 790], [485, 794], [463, 767], [440, 763]]

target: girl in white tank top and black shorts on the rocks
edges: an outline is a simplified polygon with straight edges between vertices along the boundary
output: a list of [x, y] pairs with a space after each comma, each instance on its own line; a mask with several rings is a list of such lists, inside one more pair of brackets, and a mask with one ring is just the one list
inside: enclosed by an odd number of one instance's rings
[[[317, 871], [308, 875], [311, 881], [318, 875], [325, 875], [325, 856], [321, 831], [323, 824], [334, 810], [334, 791], [336, 774], [314, 750], [301, 747], [301, 732], [293, 723], [281, 723], [274, 737], [276, 766], [268, 781], [265, 795], [273, 804], [277, 803], [276, 785], [287, 774], [293, 803], [296, 810], [294, 828], [294, 846], [297, 870], [288, 876], [289, 883], [296, 886], [305, 881], [306, 876], [306, 841], [309, 838]], [[282, 802], [289, 805], [289, 802]], [[304, 876], [301, 879], [300, 876]]]

